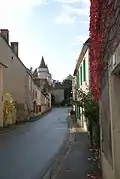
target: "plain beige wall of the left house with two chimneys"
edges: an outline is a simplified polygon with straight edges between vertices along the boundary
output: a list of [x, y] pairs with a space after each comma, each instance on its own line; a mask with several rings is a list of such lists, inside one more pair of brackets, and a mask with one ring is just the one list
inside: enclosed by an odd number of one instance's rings
[[28, 118], [26, 105], [26, 76], [27, 69], [18, 55], [18, 43], [9, 44], [9, 31], [2, 29], [0, 33], [0, 55], [1, 62], [8, 66], [8, 70], [3, 70], [4, 95], [9, 93], [16, 103], [17, 120]]

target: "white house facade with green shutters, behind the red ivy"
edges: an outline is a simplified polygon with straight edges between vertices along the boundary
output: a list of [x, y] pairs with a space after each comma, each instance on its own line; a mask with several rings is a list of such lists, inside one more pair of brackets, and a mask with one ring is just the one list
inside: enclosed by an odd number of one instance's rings
[[[73, 78], [73, 99], [79, 101], [77, 91], [82, 89], [84, 92], [89, 91], [89, 45], [90, 39], [88, 39], [80, 52]], [[80, 126], [87, 130], [86, 119], [83, 114], [83, 109], [78, 104], [75, 104], [76, 119]]]

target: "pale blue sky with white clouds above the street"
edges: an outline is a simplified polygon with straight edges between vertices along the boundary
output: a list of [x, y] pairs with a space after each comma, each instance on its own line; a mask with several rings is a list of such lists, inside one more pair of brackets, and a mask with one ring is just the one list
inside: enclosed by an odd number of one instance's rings
[[89, 0], [0, 0], [0, 29], [19, 42], [19, 57], [37, 68], [44, 56], [53, 79], [73, 74], [89, 37]]

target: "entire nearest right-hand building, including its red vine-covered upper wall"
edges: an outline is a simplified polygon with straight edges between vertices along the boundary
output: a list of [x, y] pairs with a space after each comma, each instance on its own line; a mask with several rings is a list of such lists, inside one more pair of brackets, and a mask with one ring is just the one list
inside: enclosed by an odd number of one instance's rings
[[120, 1], [92, 1], [90, 7], [91, 74], [98, 77], [94, 89], [100, 89], [102, 178], [120, 179]]

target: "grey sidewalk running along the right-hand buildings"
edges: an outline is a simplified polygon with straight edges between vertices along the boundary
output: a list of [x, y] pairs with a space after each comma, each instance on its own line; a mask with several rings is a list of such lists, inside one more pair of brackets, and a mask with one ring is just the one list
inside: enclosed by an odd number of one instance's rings
[[91, 170], [88, 135], [79, 128], [76, 130], [75, 140], [59, 166], [56, 179], [87, 179]]

